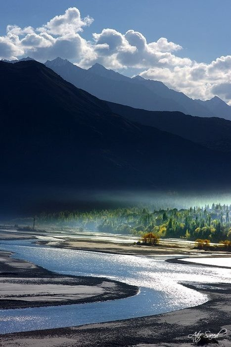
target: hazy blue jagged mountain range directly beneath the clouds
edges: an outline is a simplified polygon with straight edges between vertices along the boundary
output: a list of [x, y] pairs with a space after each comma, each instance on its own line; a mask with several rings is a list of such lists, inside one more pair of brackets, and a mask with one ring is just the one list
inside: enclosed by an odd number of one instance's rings
[[68, 82], [102, 100], [149, 111], [179, 111], [191, 116], [218, 116], [231, 120], [231, 107], [225, 102], [214, 105], [213, 99], [192, 100], [160, 81], [141, 76], [126, 77], [98, 63], [88, 70], [61, 58], [48, 60], [45, 64]]

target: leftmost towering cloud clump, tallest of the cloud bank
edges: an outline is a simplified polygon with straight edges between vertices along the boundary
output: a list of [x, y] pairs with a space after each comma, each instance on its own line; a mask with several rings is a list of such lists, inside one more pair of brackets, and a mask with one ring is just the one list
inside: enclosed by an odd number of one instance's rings
[[0, 59], [16, 59], [30, 56], [39, 61], [57, 56], [86, 63], [95, 59], [92, 44], [79, 35], [93, 19], [82, 18], [76, 7], [68, 8], [64, 14], [55, 16], [40, 28], [7, 25], [6, 35], [0, 37]]

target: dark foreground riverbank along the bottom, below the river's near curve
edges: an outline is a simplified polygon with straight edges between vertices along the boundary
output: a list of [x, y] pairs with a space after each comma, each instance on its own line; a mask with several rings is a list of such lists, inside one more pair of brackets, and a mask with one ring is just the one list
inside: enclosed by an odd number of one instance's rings
[[0, 336], [1, 346], [189, 347], [193, 342], [188, 335], [208, 330], [217, 334], [221, 329], [227, 329], [227, 335], [215, 339], [219, 345], [209, 346], [230, 346], [231, 285], [194, 283], [190, 288], [207, 294], [210, 300], [199, 306], [155, 316], [6, 334]]

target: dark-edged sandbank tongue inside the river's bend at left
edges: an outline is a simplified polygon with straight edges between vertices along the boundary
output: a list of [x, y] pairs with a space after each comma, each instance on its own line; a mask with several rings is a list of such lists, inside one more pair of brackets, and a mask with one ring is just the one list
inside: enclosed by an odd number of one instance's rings
[[12, 254], [0, 251], [0, 309], [114, 300], [139, 291], [106, 278], [53, 273]]

